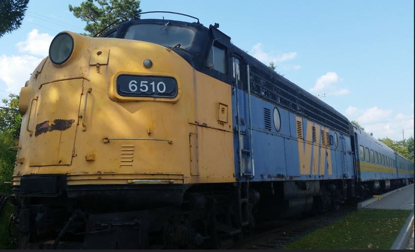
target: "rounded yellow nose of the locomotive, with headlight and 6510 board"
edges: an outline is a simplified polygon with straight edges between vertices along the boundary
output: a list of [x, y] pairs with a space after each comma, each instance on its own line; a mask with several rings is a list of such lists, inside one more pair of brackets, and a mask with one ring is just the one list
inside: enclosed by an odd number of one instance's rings
[[[204, 171], [191, 174], [191, 144], [197, 150], [200, 140], [189, 123], [198, 121], [196, 83], [217, 86], [214, 100], [199, 102], [208, 105], [206, 122], [217, 125], [218, 102], [231, 106], [230, 87], [210, 79], [158, 44], [58, 34], [21, 91], [14, 185], [24, 174], [66, 174], [68, 185], [199, 181]], [[228, 151], [209, 151], [228, 169], [205, 179], [234, 181], [231, 123], [219, 126], [227, 141], [218, 149]]]

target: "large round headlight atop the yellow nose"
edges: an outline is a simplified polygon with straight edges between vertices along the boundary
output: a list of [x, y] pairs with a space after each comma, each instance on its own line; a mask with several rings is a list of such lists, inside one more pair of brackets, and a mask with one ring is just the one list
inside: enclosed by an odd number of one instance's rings
[[73, 38], [63, 32], [56, 35], [49, 47], [49, 59], [55, 64], [65, 63], [73, 51]]

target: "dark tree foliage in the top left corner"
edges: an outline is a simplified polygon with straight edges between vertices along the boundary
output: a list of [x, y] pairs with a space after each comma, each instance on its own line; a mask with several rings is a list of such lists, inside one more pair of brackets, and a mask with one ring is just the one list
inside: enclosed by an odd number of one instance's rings
[[0, 37], [22, 25], [29, 0], [0, 0]]

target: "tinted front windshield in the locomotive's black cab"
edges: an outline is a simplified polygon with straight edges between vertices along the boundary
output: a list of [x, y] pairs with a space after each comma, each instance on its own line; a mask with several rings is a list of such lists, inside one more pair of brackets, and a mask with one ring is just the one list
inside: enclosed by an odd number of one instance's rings
[[125, 39], [139, 40], [173, 47], [180, 44], [181, 48], [190, 47], [195, 36], [195, 31], [170, 24], [134, 24], [125, 34]]

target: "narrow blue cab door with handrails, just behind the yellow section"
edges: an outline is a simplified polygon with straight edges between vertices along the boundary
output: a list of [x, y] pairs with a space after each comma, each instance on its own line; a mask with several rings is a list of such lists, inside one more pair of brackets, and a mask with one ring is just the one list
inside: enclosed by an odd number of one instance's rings
[[233, 93], [236, 104], [236, 130], [239, 157], [239, 176], [254, 176], [254, 158], [251, 128], [251, 97], [249, 86], [249, 65], [243, 65], [238, 57], [232, 58]]

